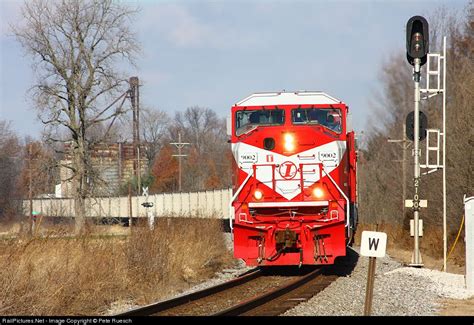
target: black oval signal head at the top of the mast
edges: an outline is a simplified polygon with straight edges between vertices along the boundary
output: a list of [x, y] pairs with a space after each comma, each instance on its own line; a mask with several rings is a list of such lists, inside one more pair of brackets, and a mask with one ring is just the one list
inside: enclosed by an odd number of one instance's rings
[[429, 52], [428, 22], [422, 16], [413, 16], [407, 22], [407, 60], [415, 65], [415, 59], [421, 59], [420, 66], [426, 63]]

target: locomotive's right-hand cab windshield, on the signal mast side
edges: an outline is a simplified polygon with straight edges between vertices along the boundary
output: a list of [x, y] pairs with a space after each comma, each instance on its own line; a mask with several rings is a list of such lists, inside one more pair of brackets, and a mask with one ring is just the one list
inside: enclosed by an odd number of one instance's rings
[[342, 131], [342, 114], [334, 108], [297, 108], [291, 111], [291, 120], [295, 125], [321, 125], [334, 132]]

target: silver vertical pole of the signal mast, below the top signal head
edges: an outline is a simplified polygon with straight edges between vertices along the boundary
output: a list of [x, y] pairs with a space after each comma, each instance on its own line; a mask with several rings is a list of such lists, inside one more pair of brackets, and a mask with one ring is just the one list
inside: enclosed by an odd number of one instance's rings
[[415, 194], [413, 195], [413, 215], [414, 215], [414, 231], [415, 231], [415, 249], [413, 252], [413, 261], [411, 266], [422, 266], [421, 256], [420, 256], [420, 245], [419, 245], [419, 210], [420, 210], [420, 196], [419, 196], [419, 186], [420, 186], [420, 63], [421, 59], [415, 59], [415, 71], [413, 74], [415, 80], [415, 118], [414, 118], [414, 160], [415, 160], [415, 170], [413, 183], [415, 188]]

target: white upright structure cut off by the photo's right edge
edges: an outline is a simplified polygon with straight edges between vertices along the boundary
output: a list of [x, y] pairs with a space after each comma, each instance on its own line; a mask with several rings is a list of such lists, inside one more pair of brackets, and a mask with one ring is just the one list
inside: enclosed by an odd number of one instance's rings
[[474, 196], [464, 196], [466, 287], [474, 291]]

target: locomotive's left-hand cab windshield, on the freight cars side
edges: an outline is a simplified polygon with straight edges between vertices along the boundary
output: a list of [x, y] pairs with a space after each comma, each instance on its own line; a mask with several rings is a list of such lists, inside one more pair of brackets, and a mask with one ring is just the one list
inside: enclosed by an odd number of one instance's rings
[[244, 110], [235, 113], [235, 135], [239, 136], [259, 126], [283, 125], [285, 111], [281, 109]]

